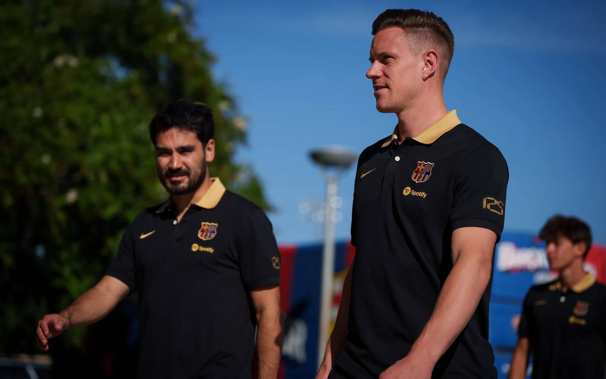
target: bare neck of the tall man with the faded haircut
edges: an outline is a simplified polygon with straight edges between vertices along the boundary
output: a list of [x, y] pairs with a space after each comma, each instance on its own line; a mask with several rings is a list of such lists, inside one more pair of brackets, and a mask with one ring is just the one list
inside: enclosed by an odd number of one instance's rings
[[415, 104], [398, 113], [399, 142], [416, 137], [448, 113], [442, 87], [429, 88]]

